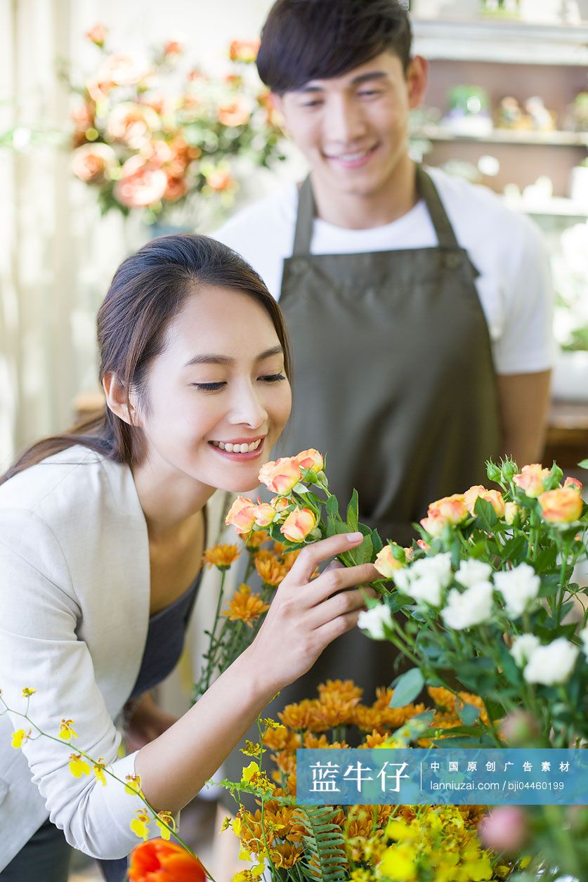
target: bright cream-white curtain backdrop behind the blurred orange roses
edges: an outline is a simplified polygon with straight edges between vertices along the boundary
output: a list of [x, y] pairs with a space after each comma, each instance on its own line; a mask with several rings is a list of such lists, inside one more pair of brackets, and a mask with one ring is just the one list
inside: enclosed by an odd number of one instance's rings
[[[19, 147], [0, 146], [0, 470], [63, 430], [76, 395], [97, 388], [95, 313], [116, 265], [141, 242], [139, 224], [100, 218], [93, 193], [72, 179], [70, 94], [57, 60], [83, 81], [97, 60], [84, 34], [100, 21], [117, 50], [146, 52], [179, 36], [190, 57], [214, 68], [229, 41], [258, 34], [271, 4], [0, 0], [0, 141], [16, 129]], [[62, 146], [47, 143], [51, 132], [62, 133]]]

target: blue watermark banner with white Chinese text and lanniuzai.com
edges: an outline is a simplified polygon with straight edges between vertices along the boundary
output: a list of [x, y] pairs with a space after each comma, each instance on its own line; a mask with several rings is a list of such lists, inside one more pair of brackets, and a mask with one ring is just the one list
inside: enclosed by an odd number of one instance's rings
[[586, 805], [588, 750], [296, 751], [301, 805]]

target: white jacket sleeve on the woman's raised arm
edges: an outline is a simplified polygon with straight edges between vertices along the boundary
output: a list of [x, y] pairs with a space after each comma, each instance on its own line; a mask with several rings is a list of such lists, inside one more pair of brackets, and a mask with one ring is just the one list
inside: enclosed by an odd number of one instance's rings
[[[34, 725], [10, 716], [14, 729], [32, 730], [21, 750], [49, 818], [90, 856], [126, 856], [138, 844], [130, 821], [143, 803], [108, 775], [106, 786], [93, 773], [74, 777], [69, 764], [71, 754], [83, 750], [124, 780], [135, 774], [137, 754], [118, 757], [121, 736], [78, 638], [80, 609], [67, 562], [48, 524], [33, 512], [0, 511], [0, 573], [0, 687], [6, 704], [23, 712], [23, 689], [36, 690], [28, 710]], [[71, 744], [58, 737], [62, 720], [73, 721]], [[35, 726], [57, 740], [37, 736]], [[158, 833], [152, 823], [149, 835]]]

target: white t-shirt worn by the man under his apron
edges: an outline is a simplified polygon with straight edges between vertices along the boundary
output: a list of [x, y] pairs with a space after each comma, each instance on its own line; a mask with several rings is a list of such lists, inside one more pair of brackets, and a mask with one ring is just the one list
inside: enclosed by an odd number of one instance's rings
[[[548, 370], [553, 363], [553, 288], [540, 230], [486, 187], [428, 168], [458, 243], [480, 276], [476, 288], [498, 374]], [[298, 191], [294, 183], [237, 213], [213, 235], [238, 251], [279, 299], [284, 258], [292, 256]], [[421, 199], [383, 227], [346, 229], [316, 220], [312, 254], [358, 254], [437, 244]]]

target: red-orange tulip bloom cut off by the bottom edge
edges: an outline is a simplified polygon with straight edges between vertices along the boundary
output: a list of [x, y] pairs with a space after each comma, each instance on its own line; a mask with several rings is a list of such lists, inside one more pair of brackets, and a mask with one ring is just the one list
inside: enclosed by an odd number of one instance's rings
[[131, 882], [205, 882], [205, 871], [196, 857], [175, 842], [152, 839], [130, 855]]

